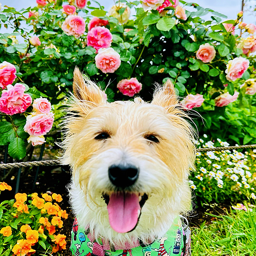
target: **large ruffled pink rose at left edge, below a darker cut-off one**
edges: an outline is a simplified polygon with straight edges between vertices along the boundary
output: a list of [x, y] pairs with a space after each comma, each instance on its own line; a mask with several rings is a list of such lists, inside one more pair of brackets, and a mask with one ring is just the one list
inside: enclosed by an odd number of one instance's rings
[[25, 112], [31, 105], [32, 98], [24, 92], [23, 84], [7, 85], [7, 90], [3, 90], [0, 98], [0, 111], [8, 115]]

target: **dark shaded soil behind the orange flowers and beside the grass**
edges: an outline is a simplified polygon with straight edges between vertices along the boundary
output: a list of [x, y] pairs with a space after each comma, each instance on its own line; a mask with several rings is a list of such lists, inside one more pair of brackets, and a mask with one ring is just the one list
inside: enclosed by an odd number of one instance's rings
[[[33, 153], [34, 155], [31, 159], [32, 161], [38, 159], [38, 155], [40, 153], [39, 151], [40, 151], [40, 147], [38, 148], [36, 147]], [[46, 153], [44, 154], [43, 160], [54, 158], [55, 152], [52, 153], [52, 150], [51, 151], [49, 149], [47, 150], [47, 147], [45, 152]], [[37, 167], [33, 167], [25, 170], [23, 169], [23, 172], [20, 177], [18, 192], [26, 193], [26, 194], [37, 192], [40, 195], [41, 193], [50, 191], [52, 193], [57, 193], [62, 196], [63, 200], [61, 203], [59, 203], [59, 205], [61, 209], [67, 211], [67, 213], [69, 214], [69, 217], [67, 219], [63, 219], [63, 227], [57, 230], [56, 233], [61, 233], [66, 235], [67, 250], [63, 250], [58, 253], [60, 256], [71, 256], [72, 254], [69, 251], [69, 247], [71, 243], [71, 229], [74, 222], [74, 216], [70, 209], [68, 190], [67, 190], [67, 185], [69, 184], [70, 178], [71, 178], [70, 169], [68, 166], [40, 167], [37, 184], [33, 189], [33, 181], [34, 181], [36, 168]], [[18, 170], [14, 170], [14, 172], [12, 173], [13, 176], [10, 176], [8, 177], [8, 179], [5, 180], [5, 182], [8, 183], [8, 185], [12, 186], [13, 189], [12, 191], [8, 191], [8, 190], [2, 191], [0, 195], [0, 201], [14, 198], [16, 180], [17, 180], [17, 171]], [[211, 224], [211, 222], [215, 220], [215, 218], [207, 215], [206, 212], [215, 214], [215, 215], [222, 215], [222, 214], [225, 214], [226, 209], [229, 210], [230, 205], [213, 204], [213, 205], [197, 208], [194, 210], [193, 214], [190, 214], [190, 216], [188, 217], [189, 226], [200, 227], [200, 225], [204, 221], [206, 222], [206, 224]], [[55, 255], [58, 255], [58, 254], [56, 253]]]

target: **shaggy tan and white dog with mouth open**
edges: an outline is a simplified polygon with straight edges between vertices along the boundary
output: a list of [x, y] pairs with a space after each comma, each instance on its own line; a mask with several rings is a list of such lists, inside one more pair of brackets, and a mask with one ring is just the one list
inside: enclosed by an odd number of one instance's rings
[[127, 251], [127, 243], [160, 241], [190, 208], [195, 160], [194, 130], [172, 83], [157, 86], [151, 103], [109, 103], [75, 68], [67, 112], [61, 159], [71, 166], [70, 202], [89, 243]]

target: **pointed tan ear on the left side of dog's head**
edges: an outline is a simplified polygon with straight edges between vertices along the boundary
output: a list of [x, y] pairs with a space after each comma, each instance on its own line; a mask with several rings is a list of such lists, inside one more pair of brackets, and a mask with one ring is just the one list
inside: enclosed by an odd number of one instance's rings
[[106, 103], [104, 92], [88, 77], [84, 77], [77, 67], [74, 70], [73, 93], [76, 99], [91, 106]]

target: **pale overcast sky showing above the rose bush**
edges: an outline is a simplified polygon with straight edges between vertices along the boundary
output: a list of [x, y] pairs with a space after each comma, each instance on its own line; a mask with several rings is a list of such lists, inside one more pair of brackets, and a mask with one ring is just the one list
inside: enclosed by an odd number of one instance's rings
[[[105, 6], [105, 10], [108, 11], [113, 5], [113, 0], [97, 0], [101, 5]], [[22, 8], [28, 8], [29, 6], [36, 6], [36, 0], [0, 0], [2, 6], [8, 5], [10, 7], [15, 7], [17, 10]], [[190, 1], [187, 1], [190, 2]], [[210, 8], [219, 13], [225, 14], [228, 16], [227, 19], [236, 19], [237, 13], [241, 10], [241, 0], [194, 0], [191, 2], [198, 3], [203, 8]], [[250, 1], [251, 5], [256, 5], [256, 0]], [[246, 8], [248, 9], [248, 7]], [[210, 19], [210, 15], [203, 16], [205, 20]], [[243, 21], [245, 23], [256, 23], [256, 17], [251, 15], [250, 12], [245, 11]], [[0, 32], [3, 31], [4, 27], [0, 29]]]

